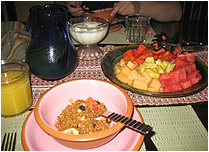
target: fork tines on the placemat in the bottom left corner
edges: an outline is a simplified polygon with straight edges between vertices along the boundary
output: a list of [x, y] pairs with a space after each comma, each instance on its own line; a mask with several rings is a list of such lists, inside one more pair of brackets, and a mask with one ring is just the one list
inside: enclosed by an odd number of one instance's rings
[[[14, 135], [14, 138], [13, 138], [13, 135]], [[16, 132], [14, 134], [11, 133], [11, 135], [10, 135], [10, 133], [8, 133], [8, 134], [5, 133], [3, 141], [2, 141], [2, 145], [1, 145], [1, 150], [2, 151], [14, 151], [15, 145], [16, 145], [16, 138], [17, 138]]]

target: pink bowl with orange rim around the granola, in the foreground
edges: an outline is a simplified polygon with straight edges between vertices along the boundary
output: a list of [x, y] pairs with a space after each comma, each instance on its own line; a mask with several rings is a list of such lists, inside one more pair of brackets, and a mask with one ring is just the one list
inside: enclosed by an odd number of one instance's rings
[[87, 99], [88, 97], [98, 99], [109, 111], [129, 118], [132, 116], [133, 103], [122, 88], [103, 80], [78, 79], [63, 82], [46, 91], [35, 106], [35, 119], [43, 131], [65, 146], [90, 149], [103, 145], [120, 132], [124, 127], [122, 123], [117, 123], [98, 133], [84, 135], [65, 134], [54, 127], [57, 116], [69, 104], [68, 99]]

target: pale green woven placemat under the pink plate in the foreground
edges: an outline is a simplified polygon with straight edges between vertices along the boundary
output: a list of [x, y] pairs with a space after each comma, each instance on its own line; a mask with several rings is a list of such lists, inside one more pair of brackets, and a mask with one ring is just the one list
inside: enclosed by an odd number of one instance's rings
[[[192, 106], [138, 108], [146, 124], [153, 127], [151, 137], [159, 151], [207, 151], [208, 133]], [[4, 133], [17, 132], [16, 151], [23, 151], [22, 125], [29, 112], [18, 117], [1, 118], [1, 141]], [[144, 151], [144, 144], [140, 151]]]

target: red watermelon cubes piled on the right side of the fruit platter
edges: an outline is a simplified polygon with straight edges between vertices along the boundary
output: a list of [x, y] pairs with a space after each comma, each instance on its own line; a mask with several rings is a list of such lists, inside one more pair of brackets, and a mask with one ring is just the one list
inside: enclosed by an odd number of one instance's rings
[[160, 74], [159, 79], [164, 92], [180, 91], [189, 88], [202, 79], [194, 63], [194, 54], [179, 54], [178, 51], [177, 49], [177, 58], [172, 60], [175, 63], [173, 71], [169, 74]]

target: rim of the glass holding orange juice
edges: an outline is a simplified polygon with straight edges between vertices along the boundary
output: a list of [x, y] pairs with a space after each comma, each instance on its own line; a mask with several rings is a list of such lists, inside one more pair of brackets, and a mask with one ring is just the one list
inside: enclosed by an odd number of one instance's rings
[[25, 67], [25, 70], [21, 71], [22, 73], [20, 75], [18, 75], [17, 77], [14, 77], [14, 78], [11, 78], [11, 79], [6, 79], [5, 81], [2, 81], [1, 79], [1, 84], [10, 84], [12, 82], [15, 82], [21, 78], [23, 78], [26, 73], [29, 71], [29, 66], [26, 62], [24, 61], [17, 61], [17, 60], [1, 60], [1, 73], [6, 73], [6, 70], [2, 71], [4, 65], [9, 65], [9, 64], [18, 64], [20, 66], [24, 66]]

